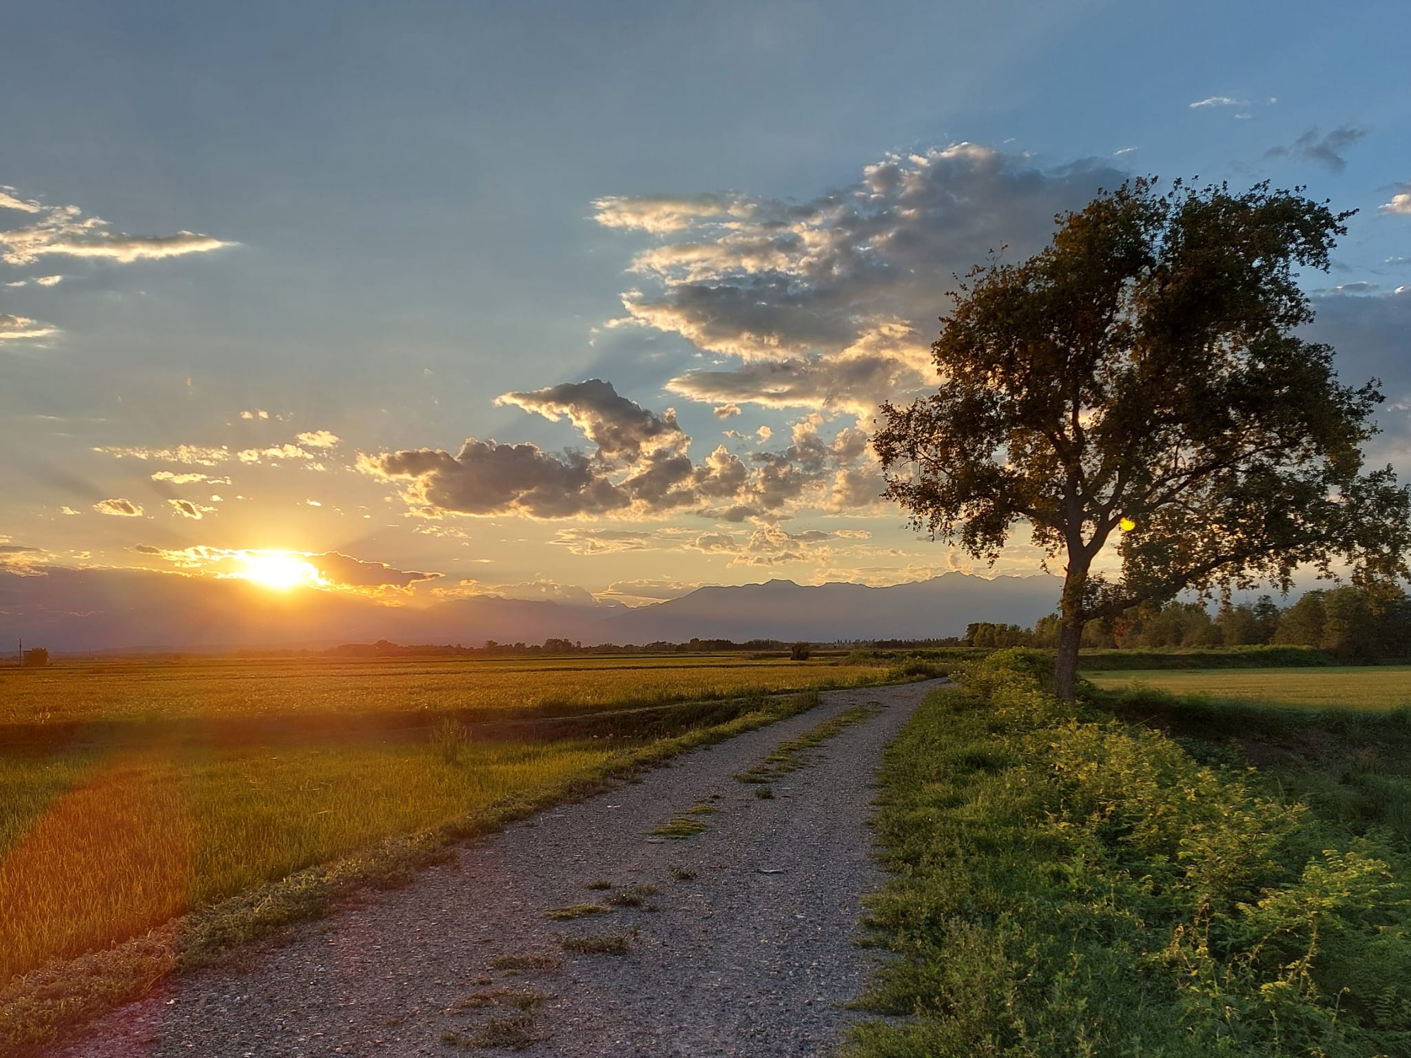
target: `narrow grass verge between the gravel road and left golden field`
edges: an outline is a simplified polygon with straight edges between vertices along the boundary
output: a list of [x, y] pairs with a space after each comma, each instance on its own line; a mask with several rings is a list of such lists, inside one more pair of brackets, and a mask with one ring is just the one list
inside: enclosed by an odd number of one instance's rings
[[[387, 838], [334, 862], [296, 870], [189, 911], [131, 940], [16, 976], [0, 987], [0, 1055], [28, 1054], [61, 1030], [147, 995], [171, 975], [207, 965], [293, 923], [326, 916], [363, 889], [406, 884], [418, 870], [444, 861], [450, 845], [459, 841], [497, 831], [555, 804], [591, 797], [679, 753], [797, 715], [818, 701], [817, 691], [748, 700], [729, 719], [660, 734], [646, 745], [584, 763], [555, 782], [504, 796], [460, 818]], [[713, 711], [713, 715], [720, 714]]]

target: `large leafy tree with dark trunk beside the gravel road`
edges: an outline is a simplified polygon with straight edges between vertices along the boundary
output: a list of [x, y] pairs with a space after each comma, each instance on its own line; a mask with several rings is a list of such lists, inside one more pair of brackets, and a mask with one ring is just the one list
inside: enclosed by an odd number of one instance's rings
[[1027, 522], [1062, 556], [1061, 698], [1084, 625], [1141, 601], [1407, 576], [1408, 491], [1362, 470], [1379, 384], [1342, 385], [1297, 333], [1295, 272], [1328, 269], [1349, 216], [1267, 183], [1102, 192], [1040, 254], [976, 265], [931, 347], [938, 392], [882, 408], [916, 528], [993, 563]]

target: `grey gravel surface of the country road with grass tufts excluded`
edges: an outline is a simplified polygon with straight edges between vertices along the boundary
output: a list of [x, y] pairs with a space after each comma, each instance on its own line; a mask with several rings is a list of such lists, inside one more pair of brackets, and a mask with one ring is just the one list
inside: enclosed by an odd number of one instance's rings
[[[547, 1037], [528, 1051], [545, 1058], [827, 1054], [858, 1017], [842, 1004], [875, 958], [854, 944], [858, 897], [882, 883], [866, 822], [873, 774], [933, 686], [828, 691], [803, 715], [468, 842], [405, 889], [171, 982], [55, 1055], [449, 1057], [477, 1052], [470, 1041], [494, 1027]], [[772, 800], [734, 779], [780, 742], [869, 703], [873, 715], [779, 777]], [[706, 801], [717, 811], [690, 817], [704, 832], [649, 835]], [[587, 889], [595, 880], [614, 887]], [[607, 904], [629, 886], [660, 892], [639, 908], [545, 917]], [[625, 937], [626, 952], [560, 948], [584, 935]], [[522, 973], [495, 965], [533, 952], [562, 963]], [[504, 987], [543, 999], [526, 1014], [495, 996]]]

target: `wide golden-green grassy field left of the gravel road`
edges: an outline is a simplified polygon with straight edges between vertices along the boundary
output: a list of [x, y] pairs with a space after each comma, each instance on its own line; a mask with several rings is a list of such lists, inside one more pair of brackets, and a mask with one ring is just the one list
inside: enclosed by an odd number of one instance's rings
[[[888, 674], [728, 656], [4, 673], [0, 987], [396, 835], [562, 796], [696, 732], [766, 722], [782, 708], [769, 693]], [[540, 719], [507, 724], [523, 717]]]

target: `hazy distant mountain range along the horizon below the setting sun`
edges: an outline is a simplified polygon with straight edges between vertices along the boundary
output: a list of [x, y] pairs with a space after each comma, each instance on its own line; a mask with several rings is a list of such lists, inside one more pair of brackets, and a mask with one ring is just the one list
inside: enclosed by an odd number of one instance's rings
[[697, 588], [677, 600], [628, 609], [492, 595], [430, 607], [392, 607], [316, 590], [288, 594], [244, 580], [145, 570], [0, 573], [0, 653], [17, 638], [51, 650], [329, 646], [396, 643], [583, 643], [701, 639], [902, 639], [959, 635], [971, 621], [1031, 625], [1054, 609], [1057, 577], [983, 580], [947, 573], [927, 581], [768, 584]]

